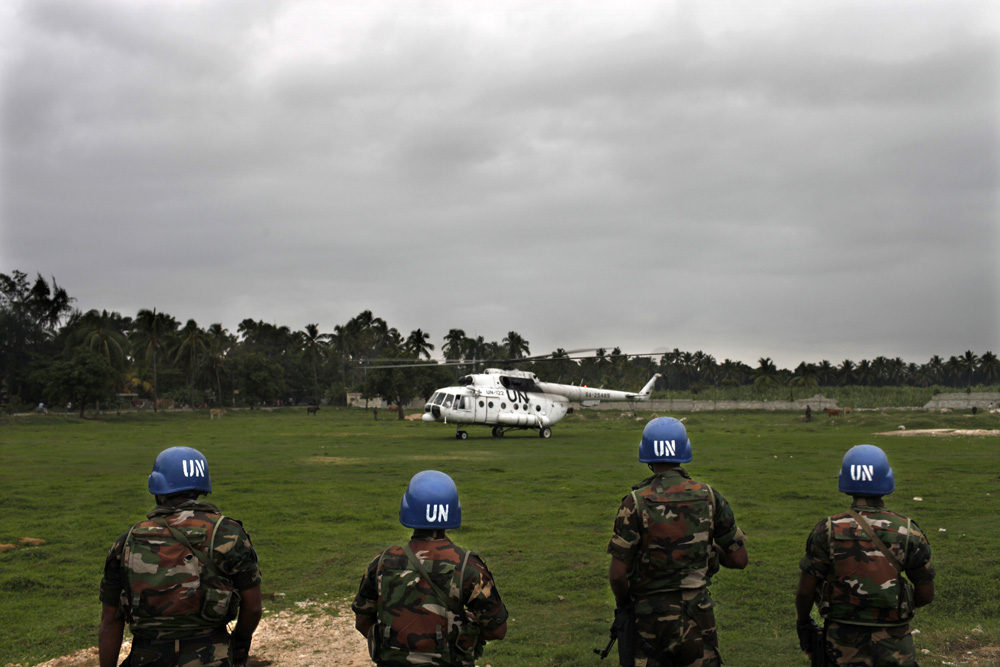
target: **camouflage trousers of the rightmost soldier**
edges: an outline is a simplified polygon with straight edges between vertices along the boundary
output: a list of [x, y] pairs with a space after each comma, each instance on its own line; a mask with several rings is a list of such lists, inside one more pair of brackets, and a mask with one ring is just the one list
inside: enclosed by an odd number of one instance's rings
[[826, 623], [826, 648], [840, 667], [917, 667], [909, 625]]

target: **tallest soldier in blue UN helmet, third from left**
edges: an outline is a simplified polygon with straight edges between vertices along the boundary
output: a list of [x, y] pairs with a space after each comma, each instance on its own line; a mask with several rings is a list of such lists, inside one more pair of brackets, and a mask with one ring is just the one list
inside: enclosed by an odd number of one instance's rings
[[653, 476], [622, 499], [608, 544], [615, 601], [635, 613], [636, 667], [722, 663], [708, 585], [720, 565], [747, 566], [746, 538], [722, 494], [680, 467], [691, 459], [682, 423], [646, 424], [639, 460]]

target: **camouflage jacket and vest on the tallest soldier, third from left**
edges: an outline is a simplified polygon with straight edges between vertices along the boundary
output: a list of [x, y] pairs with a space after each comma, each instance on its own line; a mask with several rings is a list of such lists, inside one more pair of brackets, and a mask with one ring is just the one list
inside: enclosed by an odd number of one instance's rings
[[683, 468], [632, 488], [618, 509], [608, 553], [628, 565], [633, 598], [703, 588], [718, 569], [714, 550], [732, 553], [744, 545], [726, 499]]

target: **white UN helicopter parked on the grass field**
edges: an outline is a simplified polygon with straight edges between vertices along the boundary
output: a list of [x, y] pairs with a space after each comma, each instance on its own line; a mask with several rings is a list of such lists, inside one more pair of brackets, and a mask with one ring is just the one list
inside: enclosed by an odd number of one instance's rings
[[537, 429], [552, 437], [552, 426], [566, 416], [570, 401], [597, 405], [601, 401], [648, 401], [657, 373], [638, 393], [540, 382], [528, 371], [487, 368], [459, 379], [457, 387], [438, 389], [424, 406], [425, 422], [455, 424], [455, 437], [466, 440], [463, 424], [493, 426], [493, 437], [507, 431]]

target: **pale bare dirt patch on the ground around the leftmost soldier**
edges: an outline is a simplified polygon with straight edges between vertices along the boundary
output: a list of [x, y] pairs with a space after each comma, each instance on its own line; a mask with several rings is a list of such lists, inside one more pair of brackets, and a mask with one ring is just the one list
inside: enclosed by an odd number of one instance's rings
[[[354, 629], [350, 599], [306, 600], [296, 606], [295, 611], [267, 614], [261, 619], [253, 636], [250, 667], [372, 667], [365, 639]], [[130, 646], [127, 639], [121, 660]], [[97, 649], [83, 649], [36, 667], [98, 667]]]

